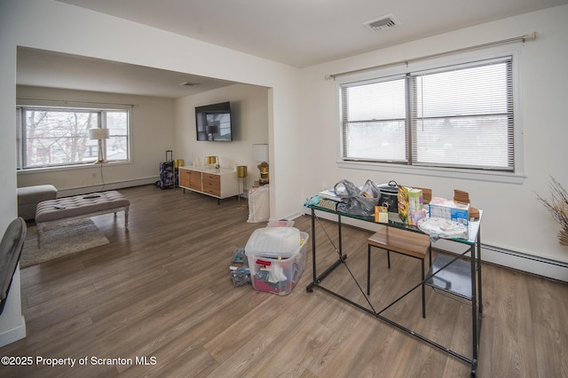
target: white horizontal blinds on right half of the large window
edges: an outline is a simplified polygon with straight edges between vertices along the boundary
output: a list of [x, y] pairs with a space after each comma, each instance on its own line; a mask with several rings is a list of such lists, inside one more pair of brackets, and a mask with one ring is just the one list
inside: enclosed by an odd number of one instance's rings
[[414, 165], [512, 170], [511, 60], [409, 77]]

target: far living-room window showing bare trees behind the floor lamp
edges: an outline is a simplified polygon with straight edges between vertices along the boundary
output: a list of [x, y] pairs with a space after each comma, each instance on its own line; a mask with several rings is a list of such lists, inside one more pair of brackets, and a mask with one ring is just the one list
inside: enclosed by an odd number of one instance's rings
[[89, 130], [104, 128], [107, 161], [129, 161], [129, 120], [126, 109], [18, 106], [18, 169], [60, 167], [97, 161], [98, 140]]

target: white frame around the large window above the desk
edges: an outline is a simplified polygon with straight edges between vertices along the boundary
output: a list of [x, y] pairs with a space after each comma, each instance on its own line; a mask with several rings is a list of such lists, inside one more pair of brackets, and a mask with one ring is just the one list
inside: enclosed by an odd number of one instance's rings
[[[522, 46], [494, 46], [492, 48], [478, 49], [475, 51], [465, 51], [448, 56], [440, 56], [432, 59], [417, 59], [409, 61], [406, 65], [388, 66], [383, 68], [369, 69], [363, 72], [340, 75], [335, 77], [336, 94], [336, 125], [337, 125], [337, 145], [336, 163], [339, 168], [345, 169], [365, 169], [392, 173], [405, 173], [412, 175], [452, 177], [463, 179], [474, 179], [492, 182], [504, 182], [512, 184], [522, 184], [525, 179], [524, 149], [523, 149], [523, 124], [520, 114], [521, 110], [521, 80], [519, 72], [521, 70]], [[385, 161], [354, 161], [343, 158], [343, 124], [342, 124], [342, 86], [350, 83], [365, 83], [381, 80], [386, 77], [397, 77], [407, 73], [429, 71], [441, 67], [461, 66], [474, 63], [479, 60], [500, 59], [510, 56], [512, 59], [512, 95], [513, 95], [513, 148], [514, 148], [514, 171], [498, 171], [489, 169], [472, 168], [446, 168], [427, 165], [406, 165], [400, 162]], [[407, 126], [410, 127], [410, 126]], [[408, 147], [408, 146], [406, 146]]]

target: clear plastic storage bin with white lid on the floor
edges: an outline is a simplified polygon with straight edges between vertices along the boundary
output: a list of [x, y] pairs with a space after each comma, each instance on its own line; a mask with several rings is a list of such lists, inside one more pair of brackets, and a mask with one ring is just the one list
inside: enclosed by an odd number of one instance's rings
[[308, 237], [293, 227], [253, 232], [245, 247], [252, 287], [277, 295], [290, 294], [304, 272]]

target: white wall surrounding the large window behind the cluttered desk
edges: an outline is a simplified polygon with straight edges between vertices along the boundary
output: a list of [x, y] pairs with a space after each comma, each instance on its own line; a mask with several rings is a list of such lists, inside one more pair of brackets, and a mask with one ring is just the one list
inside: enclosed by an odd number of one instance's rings
[[[404, 185], [430, 187], [436, 196], [452, 198], [454, 189], [469, 192], [472, 204], [484, 209], [482, 242], [568, 262], [568, 248], [556, 239], [559, 226], [536, 200], [536, 193], [548, 196], [548, 178], [556, 177], [568, 188], [566, 141], [568, 125], [565, 111], [565, 91], [568, 73], [568, 5], [541, 12], [528, 13], [507, 20], [461, 29], [452, 33], [404, 43], [348, 59], [336, 60], [309, 67], [302, 72], [302, 122], [305, 130], [304, 161], [317, 169], [302, 170], [304, 195], [316, 193], [321, 186], [328, 188], [341, 178], [362, 185], [367, 178], [377, 184], [391, 179]], [[421, 174], [402, 174], [363, 169], [341, 169], [335, 162], [337, 146], [336, 93], [333, 80], [325, 75], [354, 69], [375, 67], [403, 59], [422, 57], [441, 51], [451, 51], [472, 45], [508, 39], [537, 31], [539, 38], [528, 41], [522, 48], [520, 92], [521, 120], [525, 130], [525, 179], [522, 184], [503, 184], [481, 180], [434, 177]], [[317, 141], [317, 142], [314, 142]], [[513, 265], [511, 256], [490, 256], [488, 259]], [[531, 260], [516, 266], [529, 272], [568, 280], [568, 272], [556, 272], [556, 267], [536, 268]]]

